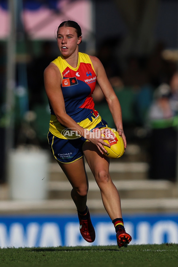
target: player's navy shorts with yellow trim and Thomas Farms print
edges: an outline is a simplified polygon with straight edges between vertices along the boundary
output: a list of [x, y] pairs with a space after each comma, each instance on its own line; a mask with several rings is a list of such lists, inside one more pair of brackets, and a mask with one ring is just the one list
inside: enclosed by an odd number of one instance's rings
[[[102, 127], [107, 127], [107, 122], [105, 120], [101, 120], [95, 128]], [[61, 163], [72, 163], [82, 158], [82, 146], [86, 141], [87, 139], [82, 136], [77, 139], [61, 139], [51, 134], [51, 132], [48, 133], [50, 150], [55, 159]]]

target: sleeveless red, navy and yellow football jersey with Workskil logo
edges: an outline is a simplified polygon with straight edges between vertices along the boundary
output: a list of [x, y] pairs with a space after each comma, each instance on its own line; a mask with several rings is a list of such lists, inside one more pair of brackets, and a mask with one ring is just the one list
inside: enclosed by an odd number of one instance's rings
[[[90, 57], [79, 52], [79, 59], [76, 68], [70, 66], [63, 56], [52, 61], [61, 72], [61, 90], [64, 97], [66, 113], [80, 126], [87, 130], [93, 129], [101, 122], [101, 116], [94, 109], [92, 98], [96, 86], [96, 73]], [[59, 138], [67, 139], [61, 134], [66, 128], [57, 120], [50, 105], [50, 132]], [[72, 138], [76, 138], [73, 135]]]

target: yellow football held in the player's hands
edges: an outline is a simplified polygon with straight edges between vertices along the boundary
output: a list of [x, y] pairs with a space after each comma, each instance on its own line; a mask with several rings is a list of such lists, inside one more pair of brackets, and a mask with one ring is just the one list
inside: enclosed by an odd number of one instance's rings
[[114, 140], [103, 140], [104, 142], [110, 144], [111, 146], [110, 148], [104, 146], [104, 148], [107, 150], [107, 153], [104, 152], [104, 154], [108, 158], [120, 158], [124, 154], [124, 142], [122, 137], [119, 135], [117, 131], [109, 127], [100, 128], [100, 131], [104, 129], [108, 129], [108, 131], [106, 131], [104, 134], [101, 134], [102, 136], [114, 137]]

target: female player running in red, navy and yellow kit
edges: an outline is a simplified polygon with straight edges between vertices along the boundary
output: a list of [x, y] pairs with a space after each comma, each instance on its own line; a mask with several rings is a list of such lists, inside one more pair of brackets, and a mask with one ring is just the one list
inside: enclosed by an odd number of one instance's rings
[[59, 25], [57, 44], [61, 55], [44, 71], [51, 110], [48, 141], [51, 152], [72, 185], [71, 197], [77, 207], [83, 238], [88, 242], [95, 240], [87, 207], [85, 157], [101, 191], [104, 208], [115, 226], [117, 244], [126, 247], [131, 236], [125, 232], [120, 196], [109, 174], [109, 158], [104, 155], [107, 150], [103, 145], [110, 145], [103, 140], [111, 138], [101, 136], [106, 130], [97, 131], [107, 127], [107, 122], [94, 109], [92, 93], [96, 80], [126, 148], [121, 107], [99, 59], [79, 52], [81, 42], [81, 28], [75, 21], [68, 20]]

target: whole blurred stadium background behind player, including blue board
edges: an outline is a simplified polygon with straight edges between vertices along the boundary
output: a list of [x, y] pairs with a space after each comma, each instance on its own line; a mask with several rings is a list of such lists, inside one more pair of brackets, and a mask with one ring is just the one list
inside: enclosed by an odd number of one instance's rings
[[[101, 60], [122, 107], [128, 146], [110, 173], [127, 231], [135, 244], [178, 243], [177, 14], [177, 0], [0, 0], [0, 247], [86, 245], [47, 142], [43, 71], [59, 54], [55, 31], [68, 19], [81, 26], [80, 51]], [[93, 98], [115, 128], [100, 88]], [[95, 244], [115, 244], [86, 169]]]

